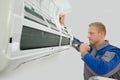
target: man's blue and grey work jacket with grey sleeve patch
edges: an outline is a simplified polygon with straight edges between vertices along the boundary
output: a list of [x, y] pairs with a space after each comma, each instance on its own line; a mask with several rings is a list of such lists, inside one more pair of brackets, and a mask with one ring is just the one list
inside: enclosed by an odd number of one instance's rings
[[110, 45], [107, 40], [104, 44], [94, 47], [82, 54], [84, 64], [84, 80], [99, 75], [110, 77], [120, 70], [120, 49]]

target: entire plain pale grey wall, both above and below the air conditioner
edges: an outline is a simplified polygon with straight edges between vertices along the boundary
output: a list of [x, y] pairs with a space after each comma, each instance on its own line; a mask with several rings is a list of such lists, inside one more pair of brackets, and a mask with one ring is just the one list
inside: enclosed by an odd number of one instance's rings
[[[74, 36], [87, 42], [88, 25], [100, 21], [106, 25], [106, 39], [120, 47], [119, 0], [70, 0], [72, 12], [66, 16], [66, 26]], [[84, 80], [83, 61], [75, 49], [56, 53], [21, 65], [0, 76], [0, 80]]]

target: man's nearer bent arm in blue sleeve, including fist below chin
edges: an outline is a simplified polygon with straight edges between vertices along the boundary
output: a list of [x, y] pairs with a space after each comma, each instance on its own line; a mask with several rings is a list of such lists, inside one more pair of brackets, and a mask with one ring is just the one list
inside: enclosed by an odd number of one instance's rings
[[[80, 46], [80, 52], [83, 61], [86, 63], [88, 68], [96, 75], [106, 75], [111, 76], [115, 70], [119, 70], [120, 67], [120, 49], [112, 49], [111, 51], [106, 51], [105, 54], [99, 58], [95, 58], [89, 53], [89, 45], [82, 44]], [[110, 73], [112, 72], [112, 73]]]

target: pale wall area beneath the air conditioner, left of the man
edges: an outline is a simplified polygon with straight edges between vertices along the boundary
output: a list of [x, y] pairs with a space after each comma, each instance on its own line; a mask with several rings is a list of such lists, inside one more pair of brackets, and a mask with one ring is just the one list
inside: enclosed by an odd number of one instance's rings
[[83, 62], [73, 48], [0, 74], [0, 80], [83, 80]]

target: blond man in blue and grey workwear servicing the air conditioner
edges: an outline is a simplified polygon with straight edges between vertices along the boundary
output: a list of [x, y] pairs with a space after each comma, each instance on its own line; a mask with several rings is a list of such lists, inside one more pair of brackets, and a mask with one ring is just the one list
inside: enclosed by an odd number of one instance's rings
[[105, 76], [120, 80], [120, 49], [105, 40], [106, 29], [101, 22], [89, 25], [88, 39], [90, 45], [74, 38], [74, 46], [81, 52], [84, 61], [84, 80], [92, 76]]

